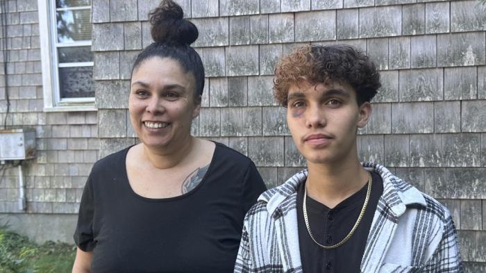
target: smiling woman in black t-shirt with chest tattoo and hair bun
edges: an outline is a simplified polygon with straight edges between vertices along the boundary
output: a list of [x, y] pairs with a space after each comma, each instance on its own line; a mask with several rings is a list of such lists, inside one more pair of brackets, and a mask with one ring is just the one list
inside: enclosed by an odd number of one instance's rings
[[92, 168], [73, 272], [233, 272], [265, 185], [249, 158], [190, 135], [204, 85], [196, 26], [173, 1], [150, 21], [155, 42], [135, 60], [128, 106], [141, 143]]

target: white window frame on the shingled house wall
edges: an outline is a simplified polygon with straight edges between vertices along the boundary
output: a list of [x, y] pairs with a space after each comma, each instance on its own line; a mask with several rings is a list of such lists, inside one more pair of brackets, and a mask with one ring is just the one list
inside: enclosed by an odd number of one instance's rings
[[[40, 55], [42, 60], [42, 90], [44, 92], [44, 111], [96, 111], [94, 97], [60, 99], [58, 67], [92, 66], [93, 62], [85, 63], [59, 63], [58, 44], [56, 37], [56, 0], [37, 0], [39, 13]], [[86, 7], [69, 8], [69, 10]], [[91, 8], [91, 7], [90, 7]], [[63, 10], [58, 8], [57, 10]], [[69, 43], [69, 46], [91, 46], [92, 41], [78, 41]]]

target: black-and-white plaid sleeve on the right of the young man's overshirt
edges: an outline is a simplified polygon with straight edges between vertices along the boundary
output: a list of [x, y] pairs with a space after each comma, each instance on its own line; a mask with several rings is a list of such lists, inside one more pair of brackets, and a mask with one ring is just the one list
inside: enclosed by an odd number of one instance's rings
[[431, 256], [424, 272], [459, 273], [463, 272], [462, 260], [458, 246], [458, 235], [449, 210], [444, 211], [444, 233], [437, 249]]

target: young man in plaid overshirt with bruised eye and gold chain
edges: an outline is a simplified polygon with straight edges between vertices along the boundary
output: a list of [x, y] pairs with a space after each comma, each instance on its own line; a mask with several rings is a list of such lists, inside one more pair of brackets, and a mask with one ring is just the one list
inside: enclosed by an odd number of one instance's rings
[[308, 169], [246, 214], [235, 272], [462, 272], [449, 211], [358, 160], [379, 87], [353, 47], [306, 45], [280, 60], [274, 96]]

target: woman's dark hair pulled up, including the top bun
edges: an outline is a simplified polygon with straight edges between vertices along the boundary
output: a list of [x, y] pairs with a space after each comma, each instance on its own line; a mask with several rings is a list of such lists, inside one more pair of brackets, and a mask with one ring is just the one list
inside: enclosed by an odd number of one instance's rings
[[159, 6], [149, 13], [152, 25], [151, 35], [153, 43], [146, 47], [135, 60], [132, 74], [149, 58], [172, 58], [191, 72], [196, 79], [196, 95], [203, 94], [204, 66], [199, 54], [190, 47], [199, 36], [197, 27], [184, 19], [184, 13], [177, 3], [172, 0], [162, 0]]

